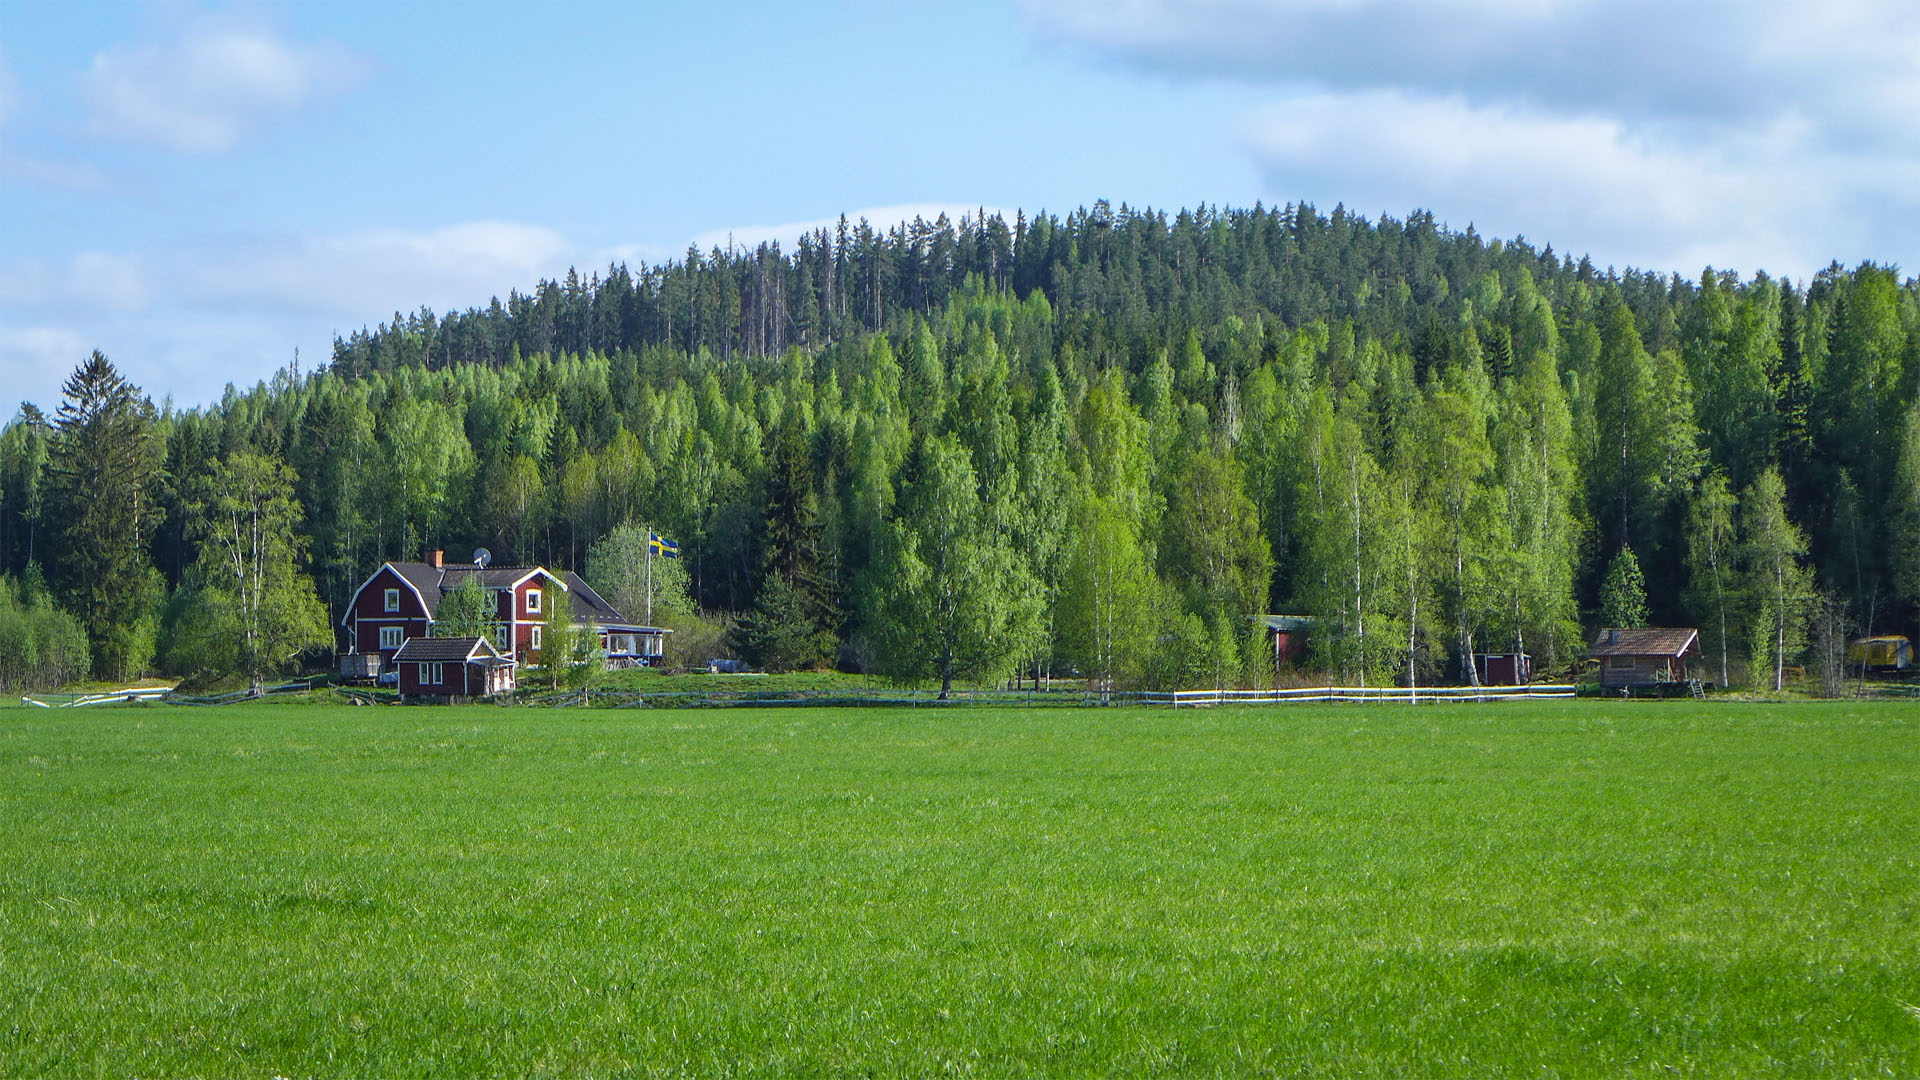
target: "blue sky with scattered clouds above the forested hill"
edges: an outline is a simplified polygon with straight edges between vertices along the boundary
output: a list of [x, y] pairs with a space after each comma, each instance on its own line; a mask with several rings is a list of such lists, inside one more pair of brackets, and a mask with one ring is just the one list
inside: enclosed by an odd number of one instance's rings
[[1912, 267], [1914, 102], [1920, 15], [1874, 0], [0, 0], [0, 409], [92, 348], [207, 402], [396, 309], [837, 213], [1306, 198]]

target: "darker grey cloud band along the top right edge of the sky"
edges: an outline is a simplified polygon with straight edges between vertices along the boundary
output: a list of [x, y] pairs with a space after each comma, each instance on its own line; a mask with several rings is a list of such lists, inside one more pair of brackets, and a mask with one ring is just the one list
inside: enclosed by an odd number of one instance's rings
[[[1791, 100], [1884, 119], [1920, 73], [1897, 0], [1029, 0], [1041, 33], [1175, 77], [1400, 86], [1626, 117], [1740, 119]], [[1836, 77], [1836, 73], [1845, 73]]]

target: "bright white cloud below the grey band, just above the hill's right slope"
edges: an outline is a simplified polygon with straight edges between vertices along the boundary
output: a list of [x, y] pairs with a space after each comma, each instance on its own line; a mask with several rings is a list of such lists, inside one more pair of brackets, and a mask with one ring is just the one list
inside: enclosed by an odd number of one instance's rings
[[[1786, 254], [1795, 271], [1826, 258], [1788, 233], [1818, 192], [1784, 169], [1797, 146], [1770, 129], [1734, 146], [1649, 140], [1620, 121], [1561, 117], [1398, 90], [1309, 94], [1256, 111], [1244, 142], [1267, 186], [1329, 209], [1404, 215], [1432, 208], [1482, 234], [1580, 238], [1601, 263], [1693, 273], [1757, 267]], [[1822, 227], [1837, 229], [1822, 213]]]

